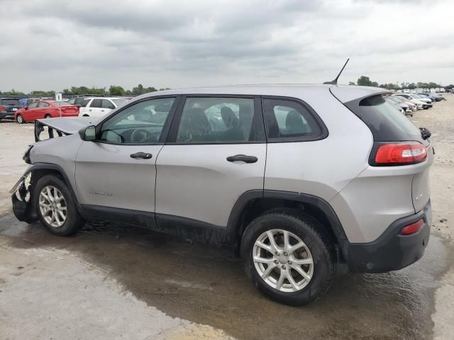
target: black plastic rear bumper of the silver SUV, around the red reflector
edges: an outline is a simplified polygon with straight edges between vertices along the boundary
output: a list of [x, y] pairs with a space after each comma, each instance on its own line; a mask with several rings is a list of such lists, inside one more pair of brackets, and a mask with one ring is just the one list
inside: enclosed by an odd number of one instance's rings
[[[416, 234], [404, 236], [400, 231], [406, 225], [424, 220]], [[347, 264], [350, 271], [384, 273], [397, 271], [421, 259], [431, 232], [431, 201], [415, 215], [396, 220], [386, 231], [370, 243], [350, 243], [347, 249]]]

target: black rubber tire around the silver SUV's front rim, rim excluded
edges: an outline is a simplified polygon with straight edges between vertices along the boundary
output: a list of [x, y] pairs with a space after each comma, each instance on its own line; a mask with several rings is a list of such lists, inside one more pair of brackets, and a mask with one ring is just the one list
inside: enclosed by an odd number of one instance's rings
[[[67, 216], [65, 222], [60, 227], [52, 227], [51, 225], [49, 225], [41, 214], [40, 208], [38, 207], [40, 192], [43, 188], [45, 188], [45, 186], [54, 186], [60, 191], [60, 193], [62, 193], [62, 196], [65, 198]], [[35, 210], [38, 214], [38, 217], [40, 217], [41, 225], [43, 225], [43, 227], [45, 227], [45, 229], [48, 230], [48, 232], [50, 232], [51, 234], [58, 236], [69, 236], [71, 234], [75, 234], [85, 223], [84, 219], [77, 210], [77, 206], [70, 189], [68, 189], [65, 182], [62, 181], [62, 179], [60, 179], [60, 177], [58, 176], [45, 175], [38, 180], [35, 188], [33, 188], [33, 204], [35, 205]]]

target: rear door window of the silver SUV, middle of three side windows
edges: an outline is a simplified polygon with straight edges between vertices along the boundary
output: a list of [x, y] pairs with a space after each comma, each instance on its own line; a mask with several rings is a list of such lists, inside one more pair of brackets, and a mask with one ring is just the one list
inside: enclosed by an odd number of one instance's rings
[[248, 142], [254, 118], [252, 98], [187, 98], [179, 122], [179, 143]]

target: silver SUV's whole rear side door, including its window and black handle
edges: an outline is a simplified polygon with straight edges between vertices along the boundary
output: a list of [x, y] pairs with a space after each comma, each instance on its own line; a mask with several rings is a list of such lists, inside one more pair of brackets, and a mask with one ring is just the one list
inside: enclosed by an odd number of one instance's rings
[[182, 98], [157, 157], [158, 225], [226, 227], [236, 200], [263, 190], [266, 148], [259, 98]]

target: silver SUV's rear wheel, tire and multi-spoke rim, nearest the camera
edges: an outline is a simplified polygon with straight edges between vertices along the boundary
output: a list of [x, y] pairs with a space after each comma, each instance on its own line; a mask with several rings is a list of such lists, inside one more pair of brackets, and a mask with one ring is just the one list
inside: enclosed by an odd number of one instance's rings
[[248, 225], [241, 241], [245, 271], [277, 302], [306, 305], [328, 290], [334, 276], [331, 243], [309, 215], [270, 212]]

